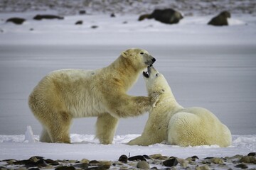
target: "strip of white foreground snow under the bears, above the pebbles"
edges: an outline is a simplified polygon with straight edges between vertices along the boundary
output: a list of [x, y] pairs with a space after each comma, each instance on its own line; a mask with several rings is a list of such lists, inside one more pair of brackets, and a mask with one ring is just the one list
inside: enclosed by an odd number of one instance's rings
[[[186, 159], [193, 155], [200, 159], [205, 157], [233, 157], [236, 154], [247, 155], [256, 151], [256, 135], [233, 135], [230, 147], [198, 146], [178, 147], [164, 143], [149, 147], [126, 145], [129, 140], [138, 135], [116, 135], [113, 145], [100, 145], [94, 135], [71, 134], [70, 144], [48, 144], [42, 142], [28, 142], [24, 135], [0, 135], [0, 160], [28, 159], [42, 156], [49, 159], [89, 159], [116, 161], [122, 154], [143, 155], [162, 154]], [[38, 135], [34, 136], [38, 140]]]

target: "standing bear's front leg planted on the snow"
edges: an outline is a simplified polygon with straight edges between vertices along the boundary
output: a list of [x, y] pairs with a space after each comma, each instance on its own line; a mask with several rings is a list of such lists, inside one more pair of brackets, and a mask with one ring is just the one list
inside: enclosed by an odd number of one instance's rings
[[96, 138], [101, 144], [112, 144], [114, 133], [117, 130], [118, 118], [114, 118], [109, 113], [99, 115], [96, 122]]

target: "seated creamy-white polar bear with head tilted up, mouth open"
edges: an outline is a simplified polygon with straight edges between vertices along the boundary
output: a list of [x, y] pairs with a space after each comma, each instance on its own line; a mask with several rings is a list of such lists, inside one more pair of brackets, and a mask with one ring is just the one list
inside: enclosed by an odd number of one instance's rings
[[171, 145], [219, 145], [228, 147], [230, 130], [206, 108], [183, 108], [171, 92], [162, 74], [154, 67], [143, 72], [149, 96], [159, 94], [159, 101], [149, 112], [144, 131], [128, 145], [153, 145], [166, 140]]

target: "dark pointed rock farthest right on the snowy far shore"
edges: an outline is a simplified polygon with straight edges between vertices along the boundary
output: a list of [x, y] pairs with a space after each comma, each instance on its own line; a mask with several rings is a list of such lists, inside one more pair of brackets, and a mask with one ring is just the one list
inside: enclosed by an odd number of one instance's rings
[[228, 18], [230, 18], [230, 12], [223, 11], [218, 16], [213, 17], [209, 22], [208, 25], [212, 26], [228, 26]]

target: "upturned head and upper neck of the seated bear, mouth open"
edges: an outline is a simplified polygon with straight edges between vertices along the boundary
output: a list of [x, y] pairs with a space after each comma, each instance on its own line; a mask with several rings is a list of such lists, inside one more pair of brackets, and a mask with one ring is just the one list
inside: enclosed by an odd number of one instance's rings
[[160, 99], [173, 96], [164, 75], [159, 73], [153, 66], [147, 67], [147, 72], [143, 72], [143, 77], [149, 96], [160, 94]]

